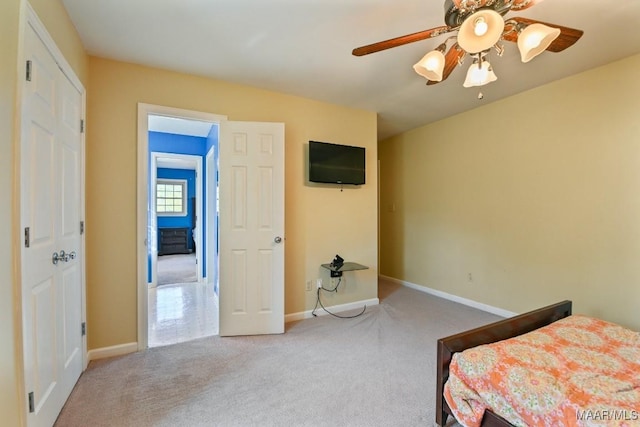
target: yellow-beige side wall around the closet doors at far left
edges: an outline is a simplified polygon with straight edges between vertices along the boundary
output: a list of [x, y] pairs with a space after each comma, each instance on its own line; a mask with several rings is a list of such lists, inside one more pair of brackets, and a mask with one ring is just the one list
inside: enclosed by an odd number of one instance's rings
[[[86, 78], [86, 55], [75, 28], [60, 1], [33, 0], [34, 10], [43, 19], [49, 33], [64, 53], [81, 80]], [[21, 13], [26, 9], [23, 0], [0, 2], [0, 185], [9, 189], [12, 203], [0, 204], [0, 414], [2, 424], [20, 425], [24, 399], [22, 382], [22, 322], [19, 296], [19, 218], [17, 212], [19, 172], [14, 156], [19, 146], [16, 127], [19, 111], [16, 99], [22, 84], [19, 73]], [[5, 193], [7, 194], [7, 193]], [[13, 238], [8, 238], [12, 236]]]

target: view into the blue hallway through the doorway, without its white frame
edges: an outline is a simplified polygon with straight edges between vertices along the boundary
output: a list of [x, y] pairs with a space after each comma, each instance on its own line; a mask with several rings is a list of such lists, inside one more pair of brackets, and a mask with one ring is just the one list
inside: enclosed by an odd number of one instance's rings
[[[176, 120], [181, 126], [176, 126]], [[217, 193], [215, 181], [210, 188], [203, 185], [207, 171], [203, 170], [202, 154], [209, 139], [213, 139], [209, 149], [215, 152], [217, 127], [211, 123], [149, 117], [148, 197], [149, 222], [153, 224], [149, 240], [156, 242], [148, 251], [149, 347], [218, 333], [215, 283], [206, 281], [206, 268], [214, 270], [216, 265], [201, 261], [207, 240], [202, 200]]]

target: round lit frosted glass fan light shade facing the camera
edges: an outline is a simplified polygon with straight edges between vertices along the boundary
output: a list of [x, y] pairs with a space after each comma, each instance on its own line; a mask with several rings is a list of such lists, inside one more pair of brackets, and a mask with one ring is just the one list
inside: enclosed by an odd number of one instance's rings
[[504, 19], [491, 9], [482, 9], [464, 20], [458, 30], [458, 44], [468, 53], [489, 49], [500, 40]]

